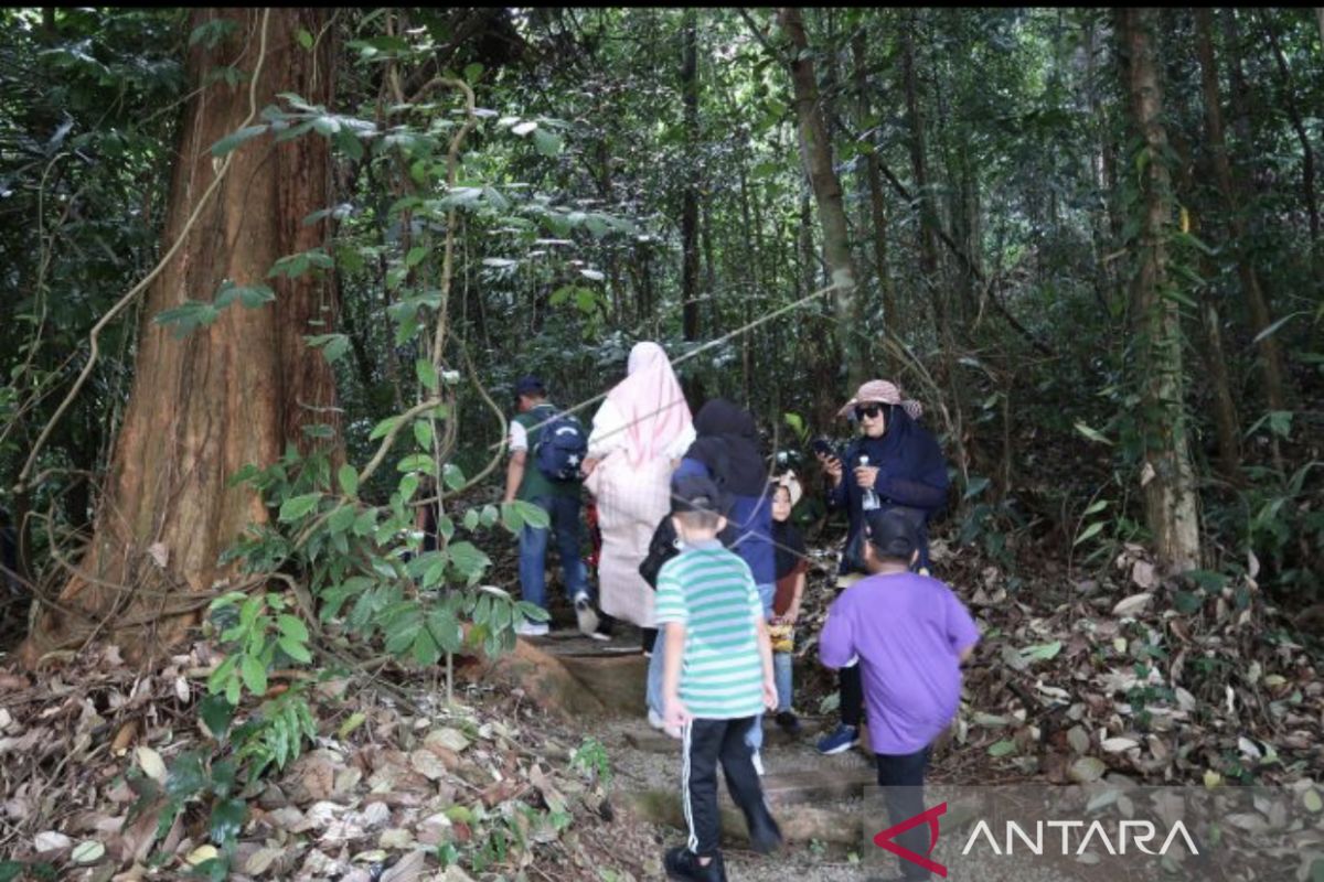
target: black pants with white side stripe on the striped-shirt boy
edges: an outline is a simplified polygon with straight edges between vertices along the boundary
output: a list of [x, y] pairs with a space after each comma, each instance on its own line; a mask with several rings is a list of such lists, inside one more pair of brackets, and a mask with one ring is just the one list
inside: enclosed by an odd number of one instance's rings
[[749, 829], [773, 824], [763, 799], [759, 772], [745, 734], [753, 717], [741, 719], [695, 719], [685, 727], [681, 787], [685, 817], [690, 824], [690, 850], [703, 857], [722, 845], [722, 815], [718, 811], [718, 763], [727, 779], [731, 799], [744, 812]]

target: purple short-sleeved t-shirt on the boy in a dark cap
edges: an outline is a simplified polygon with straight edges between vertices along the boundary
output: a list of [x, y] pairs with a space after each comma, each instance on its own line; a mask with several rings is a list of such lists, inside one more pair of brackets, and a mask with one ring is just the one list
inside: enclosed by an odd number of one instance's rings
[[874, 752], [914, 754], [956, 715], [960, 653], [978, 639], [969, 611], [943, 582], [914, 573], [871, 575], [831, 604], [818, 657], [842, 668], [859, 656]]

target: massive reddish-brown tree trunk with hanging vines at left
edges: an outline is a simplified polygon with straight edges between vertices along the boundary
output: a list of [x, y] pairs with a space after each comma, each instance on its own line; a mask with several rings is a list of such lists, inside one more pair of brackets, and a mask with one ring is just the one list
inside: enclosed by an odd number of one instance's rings
[[[257, 74], [256, 110], [297, 93], [314, 103], [331, 95], [334, 40], [320, 9], [199, 9], [191, 28], [218, 20], [238, 26], [214, 48], [188, 56], [189, 98], [180, 128], [163, 251], [183, 247], [147, 290], [134, 387], [95, 534], [60, 596], [33, 623], [23, 657], [71, 648], [91, 633], [130, 655], [177, 641], [230, 575], [220, 553], [267, 512], [246, 485], [226, 480], [246, 463], [267, 465], [302, 427], [338, 421], [334, 376], [303, 335], [326, 332], [335, 298], [324, 278], [266, 279], [281, 257], [322, 245], [322, 225], [303, 218], [327, 205], [327, 141], [316, 135], [273, 144], [269, 134], [233, 153], [224, 181], [188, 226], [222, 163], [211, 147], [250, 119], [249, 83], [200, 86], [211, 71], [238, 63]], [[298, 32], [323, 34], [314, 50]], [[249, 122], [245, 122], [249, 120]], [[208, 328], [176, 339], [154, 324], [185, 299], [211, 299], [221, 282], [271, 283], [277, 300], [249, 309], [234, 304]], [[312, 323], [318, 323], [314, 325]]]

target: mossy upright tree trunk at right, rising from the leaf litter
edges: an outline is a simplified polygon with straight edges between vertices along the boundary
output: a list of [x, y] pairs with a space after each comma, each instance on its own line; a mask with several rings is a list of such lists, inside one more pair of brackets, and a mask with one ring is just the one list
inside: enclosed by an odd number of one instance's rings
[[1200, 522], [1182, 407], [1181, 317], [1177, 301], [1161, 296], [1166, 284], [1172, 179], [1166, 159], [1168, 132], [1162, 123], [1162, 90], [1155, 62], [1155, 19], [1153, 9], [1117, 11], [1123, 85], [1129, 98], [1132, 124], [1141, 136], [1141, 149], [1148, 159], [1137, 164], [1143, 168], [1143, 214], [1137, 267], [1131, 287], [1141, 383], [1137, 415], [1145, 460], [1140, 483], [1145, 495], [1145, 520], [1160, 561], [1172, 570], [1189, 570], [1200, 566]]

